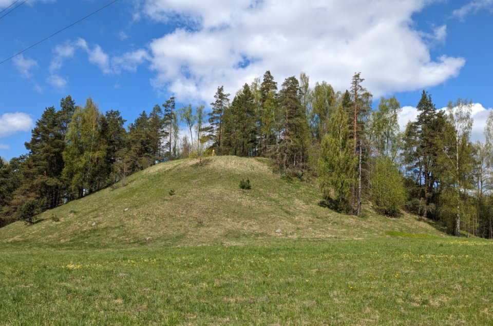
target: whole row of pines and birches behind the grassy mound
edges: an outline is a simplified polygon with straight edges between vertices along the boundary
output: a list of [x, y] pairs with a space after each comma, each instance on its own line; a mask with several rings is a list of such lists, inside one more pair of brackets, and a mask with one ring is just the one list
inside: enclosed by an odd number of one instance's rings
[[[218, 87], [204, 106], [175, 108], [170, 97], [124, 128], [119, 111], [104, 114], [88, 98], [70, 96], [47, 108], [25, 146], [29, 153], [0, 162], [0, 224], [94, 191], [158, 162], [191, 156], [272, 159], [286, 177], [316, 179], [323, 203], [361, 215], [362, 207], [398, 216], [402, 210], [439, 221], [449, 233], [493, 238], [493, 115], [486, 141], [473, 143], [472, 103], [458, 99], [437, 110], [423, 91], [416, 121], [400, 131], [401, 105], [372, 94], [355, 73], [351, 87], [286, 78], [278, 87], [267, 71], [231, 95]], [[188, 136], [180, 136], [184, 124]]]

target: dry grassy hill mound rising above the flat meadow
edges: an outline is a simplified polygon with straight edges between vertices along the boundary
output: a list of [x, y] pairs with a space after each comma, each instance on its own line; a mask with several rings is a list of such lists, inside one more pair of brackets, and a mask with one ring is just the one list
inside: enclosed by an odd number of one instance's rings
[[[251, 190], [239, 188], [249, 178]], [[170, 195], [169, 191], [175, 194]], [[216, 156], [166, 162], [105, 189], [44, 212], [34, 225], [0, 229], [0, 243], [112, 247], [196, 245], [252, 239], [344, 239], [441, 235], [412, 216], [335, 213], [319, 205], [314, 184], [290, 181], [264, 160]], [[280, 230], [280, 231], [279, 231]]]

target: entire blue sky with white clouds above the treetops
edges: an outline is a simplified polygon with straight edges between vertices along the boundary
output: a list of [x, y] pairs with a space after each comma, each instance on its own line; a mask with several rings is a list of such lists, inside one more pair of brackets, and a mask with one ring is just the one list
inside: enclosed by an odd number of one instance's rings
[[[0, 13], [0, 62], [110, 2], [17, 1]], [[467, 98], [484, 140], [492, 18], [493, 0], [119, 0], [0, 64], [0, 156], [26, 154], [35, 121], [67, 95], [128, 124], [170, 96], [210, 109], [218, 86], [235, 94], [267, 70], [279, 86], [305, 72], [336, 91], [361, 72], [374, 107], [400, 101], [401, 126], [423, 90], [437, 108]]]

